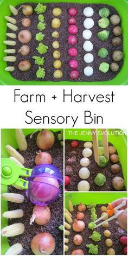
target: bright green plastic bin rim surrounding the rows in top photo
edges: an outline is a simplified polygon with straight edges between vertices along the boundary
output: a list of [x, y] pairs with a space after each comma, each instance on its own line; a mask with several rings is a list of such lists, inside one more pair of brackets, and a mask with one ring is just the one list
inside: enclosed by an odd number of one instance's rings
[[[5, 61], [3, 61], [3, 57], [5, 53], [3, 52], [5, 49], [5, 45], [3, 41], [5, 40], [5, 33], [7, 30], [7, 25], [4, 16], [10, 15], [9, 4], [16, 5], [21, 3], [27, 2], [34, 2], [39, 3], [40, 0], [0, 0], [0, 9], [1, 9], [1, 30], [0, 30], [0, 84], [1, 85], [127, 85], [128, 84], [128, 74], [127, 74], [127, 66], [128, 66], [128, 47], [127, 47], [127, 38], [128, 38], [128, 29], [127, 29], [127, 12], [128, 12], [128, 2], [127, 0], [77, 0], [77, 3], [85, 3], [85, 4], [108, 4], [113, 6], [119, 12], [122, 22], [123, 28], [123, 36], [124, 36], [124, 65], [119, 72], [119, 74], [111, 81], [105, 82], [69, 82], [69, 81], [62, 81], [62, 82], [49, 82], [49, 81], [18, 81], [10, 75], [9, 72], [4, 71], [6, 67]], [[50, 2], [70, 2], [74, 3], [74, 0], [44, 0], [43, 3], [50, 3]]]

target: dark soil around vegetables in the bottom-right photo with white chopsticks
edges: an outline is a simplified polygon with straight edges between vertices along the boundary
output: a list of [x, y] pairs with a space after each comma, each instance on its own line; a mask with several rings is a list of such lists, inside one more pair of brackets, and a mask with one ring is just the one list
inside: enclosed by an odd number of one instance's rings
[[[101, 206], [107, 206], [107, 204], [97, 204], [96, 209], [96, 214], [98, 215], [98, 218], [101, 215], [101, 210], [100, 207]], [[78, 212], [78, 206], [74, 207], [74, 212], [72, 214], [72, 218], [73, 221], [76, 218], [76, 213]], [[71, 228], [69, 230], [70, 235], [66, 236], [69, 239], [69, 243], [67, 244], [69, 246], [68, 252], [66, 254], [71, 254], [75, 249], [82, 249], [84, 251], [84, 255], [89, 254], [89, 248], [86, 247], [87, 244], [93, 244], [93, 245], [98, 245], [98, 251], [99, 251], [99, 255], [105, 255], [107, 254], [107, 250], [109, 247], [107, 247], [105, 245], [105, 236], [104, 236], [104, 231], [105, 229], [108, 229], [111, 232], [111, 236], [110, 239], [112, 239], [113, 241], [113, 246], [112, 248], [115, 250], [116, 255], [121, 255], [123, 254], [123, 248], [124, 246], [120, 244], [119, 242], [119, 238], [120, 236], [126, 235], [126, 232], [121, 229], [117, 223], [116, 220], [112, 220], [109, 223], [108, 228], [103, 228], [102, 226], [98, 227], [95, 229], [95, 231], [99, 232], [101, 234], [101, 240], [98, 242], [94, 242], [92, 239], [89, 238], [89, 236], [92, 235], [93, 231], [91, 229], [88, 228], [88, 223], [91, 222], [91, 212], [86, 208], [85, 211], [85, 218], [83, 220], [85, 222], [85, 229], [82, 232], [79, 232], [80, 235], [82, 235], [83, 238], [83, 242], [80, 246], [76, 246], [73, 243], [73, 237], [74, 235], [76, 235], [77, 233], [75, 231], [73, 231], [73, 229]], [[99, 222], [98, 222], [99, 223]]]

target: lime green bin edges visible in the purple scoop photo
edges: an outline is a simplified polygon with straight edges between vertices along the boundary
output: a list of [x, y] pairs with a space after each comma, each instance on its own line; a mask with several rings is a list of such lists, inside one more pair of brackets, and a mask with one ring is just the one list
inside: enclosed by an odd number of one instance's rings
[[[53, 129], [53, 131], [58, 131], [58, 130], [60, 129]], [[25, 136], [34, 131], [35, 129], [23, 129]], [[11, 145], [15, 149], [18, 148], [14, 129], [1, 130], [1, 156], [2, 157], [9, 157], [8, 152], [5, 150], [5, 145], [7, 144]], [[7, 186], [4, 186], [4, 185], [1, 186], [1, 193], [7, 193]], [[2, 216], [3, 213], [7, 210], [8, 210], [7, 201], [4, 199], [1, 199], [1, 229], [8, 225], [8, 220]], [[1, 254], [4, 255], [8, 248], [9, 248], [8, 239], [1, 236]]]

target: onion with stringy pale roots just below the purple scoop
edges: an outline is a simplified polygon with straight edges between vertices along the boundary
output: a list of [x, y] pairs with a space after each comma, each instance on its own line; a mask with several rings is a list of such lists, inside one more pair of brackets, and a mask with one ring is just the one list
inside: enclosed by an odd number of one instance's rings
[[46, 225], [50, 221], [50, 209], [48, 206], [34, 206], [30, 225], [35, 221], [38, 225]]

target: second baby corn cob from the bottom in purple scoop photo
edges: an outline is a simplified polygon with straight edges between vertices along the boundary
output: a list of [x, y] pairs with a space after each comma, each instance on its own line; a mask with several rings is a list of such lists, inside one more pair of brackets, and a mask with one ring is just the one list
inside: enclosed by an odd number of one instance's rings
[[24, 225], [22, 223], [15, 223], [2, 229], [2, 236], [11, 237], [21, 235], [24, 232]]

